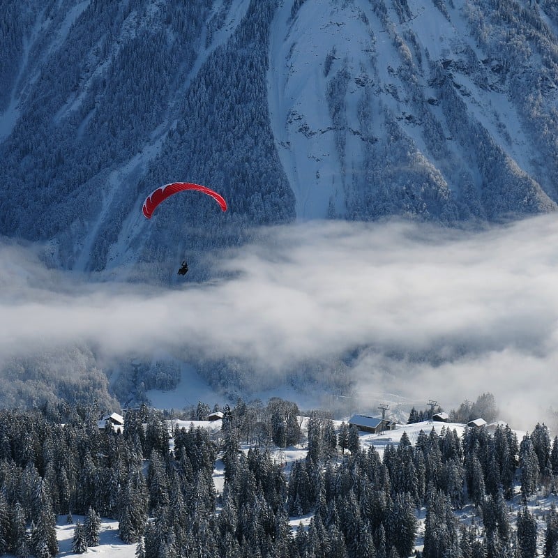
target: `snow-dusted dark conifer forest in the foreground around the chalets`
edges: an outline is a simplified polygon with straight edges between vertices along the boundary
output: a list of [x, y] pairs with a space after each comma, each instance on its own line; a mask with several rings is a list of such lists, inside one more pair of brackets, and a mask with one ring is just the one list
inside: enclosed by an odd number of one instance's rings
[[[3, 411], [0, 553], [56, 556], [55, 516], [75, 513], [77, 553], [98, 545], [101, 515], [145, 558], [556, 555], [555, 505], [534, 511], [556, 497], [558, 438], [545, 425], [518, 440], [507, 425], [460, 437], [421, 423], [415, 444], [404, 432], [377, 451], [323, 412], [301, 428], [298, 412], [239, 401], [217, 436], [176, 425], [169, 446], [169, 423], [146, 407], [121, 433], [99, 429], [92, 407]], [[285, 469], [270, 450], [295, 444], [306, 457]], [[306, 527], [293, 531], [297, 518]]]

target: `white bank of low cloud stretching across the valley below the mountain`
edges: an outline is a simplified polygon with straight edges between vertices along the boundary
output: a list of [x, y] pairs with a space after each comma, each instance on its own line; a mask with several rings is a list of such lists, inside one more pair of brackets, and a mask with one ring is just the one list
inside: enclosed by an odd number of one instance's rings
[[483, 232], [310, 223], [266, 229], [227, 254], [216, 273], [229, 279], [158, 290], [75, 282], [4, 245], [0, 352], [165, 349], [240, 359], [280, 382], [300, 363], [357, 351], [348, 365], [363, 398], [385, 390], [458, 405], [491, 391], [506, 409], [545, 406], [558, 364], [556, 246], [555, 216]]

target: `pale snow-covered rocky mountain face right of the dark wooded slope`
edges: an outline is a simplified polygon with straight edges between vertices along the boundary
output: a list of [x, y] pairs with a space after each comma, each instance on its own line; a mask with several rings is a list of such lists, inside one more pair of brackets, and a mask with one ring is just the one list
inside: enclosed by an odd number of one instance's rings
[[[536, 131], [509, 89], [503, 53], [495, 60], [493, 43], [477, 36], [487, 6], [363, 0], [324, 9], [307, 1], [293, 17], [282, 5], [271, 31], [269, 107], [297, 216], [451, 221], [555, 208], [555, 169], [540, 172]], [[542, 10], [537, 17], [543, 25]], [[499, 30], [497, 15], [490, 19], [490, 31]], [[487, 148], [504, 167], [497, 179], [482, 160]]]

